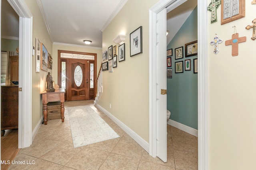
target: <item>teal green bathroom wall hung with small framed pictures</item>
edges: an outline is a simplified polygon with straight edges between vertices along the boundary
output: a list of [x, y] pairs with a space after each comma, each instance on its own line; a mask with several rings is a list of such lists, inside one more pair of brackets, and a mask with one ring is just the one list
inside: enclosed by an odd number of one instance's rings
[[[174, 23], [175, 24], [175, 23]], [[170, 119], [198, 129], [197, 74], [194, 74], [196, 56], [185, 57], [185, 44], [197, 40], [197, 7], [190, 14], [167, 49], [172, 49], [172, 78], [167, 78], [167, 109]], [[183, 59], [175, 60], [175, 49], [183, 46]], [[191, 70], [185, 71], [184, 60], [191, 59]], [[175, 74], [175, 62], [183, 61], [183, 73]]]

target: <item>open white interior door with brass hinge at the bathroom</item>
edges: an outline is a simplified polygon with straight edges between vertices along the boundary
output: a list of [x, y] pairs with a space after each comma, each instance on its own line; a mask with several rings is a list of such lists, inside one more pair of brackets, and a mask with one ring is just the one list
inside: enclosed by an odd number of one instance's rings
[[[164, 41], [163, 41], [164, 40]], [[157, 14], [157, 66], [156, 80], [156, 112], [157, 112], [157, 150], [156, 156], [167, 162], [167, 128], [166, 128], [166, 8]]]

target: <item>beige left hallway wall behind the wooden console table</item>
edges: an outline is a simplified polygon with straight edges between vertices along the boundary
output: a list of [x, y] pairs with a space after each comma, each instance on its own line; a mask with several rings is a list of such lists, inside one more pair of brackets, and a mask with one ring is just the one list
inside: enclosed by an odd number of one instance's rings
[[[52, 54], [52, 41], [44, 24], [42, 14], [36, 0], [24, 0], [33, 16], [33, 35], [32, 45], [36, 47], [36, 38], [44, 44], [47, 51]], [[40, 70], [35, 71], [35, 56], [32, 56], [32, 131], [34, 131], [39, 121], [42, 121], [42, 97], [41, 92], [45, 90], [45, 81], [47, 73]], [[51, 70], [48, 70], [52, 73]]]

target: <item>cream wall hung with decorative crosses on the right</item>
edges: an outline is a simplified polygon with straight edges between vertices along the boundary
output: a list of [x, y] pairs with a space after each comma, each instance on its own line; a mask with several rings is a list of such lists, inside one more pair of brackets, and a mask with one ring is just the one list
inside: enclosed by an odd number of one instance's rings
[[[208, 0], [210, 4], [211, 0]], [[256, 152], [256, 40], [252, 41], [252, 29], [246, 30], [256, 18], [256, 5], [246, 0], [246, 17], [220, 25], [210, 23], [208, 12], [208, 80], [209, 80], [209, 166], [211, 170], [254, 169]], [[239, 37], [238, 56], [232, 57], [231, 39], [236, 26]], [[215, 55], [210, 45], [215, 33], [223, 39]]]

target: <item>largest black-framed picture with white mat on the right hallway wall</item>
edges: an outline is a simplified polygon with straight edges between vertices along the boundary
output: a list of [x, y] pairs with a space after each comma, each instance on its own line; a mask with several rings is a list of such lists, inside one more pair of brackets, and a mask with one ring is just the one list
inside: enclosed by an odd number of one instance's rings
[[130, 33], [130, 57], [142, 53], [142, 26]]

